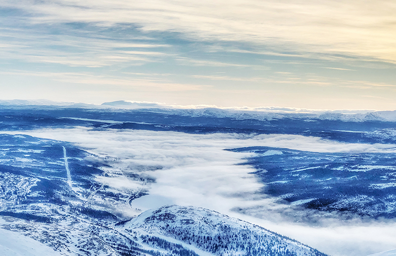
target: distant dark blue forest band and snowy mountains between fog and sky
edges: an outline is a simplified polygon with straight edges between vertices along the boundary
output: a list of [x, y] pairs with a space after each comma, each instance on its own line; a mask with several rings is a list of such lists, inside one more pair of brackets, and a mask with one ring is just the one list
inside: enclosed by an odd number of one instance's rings
[[[112, 105], [113, 103], [109, 103]], [[395, 143], [396, 112], [370, 113], [181, 109], [156, 103], [1, 105], [0, 130], [85, 126], [185, 133], [294, 134], [353, 143]], [[158, 107], [159, 106], [159, 107]]]

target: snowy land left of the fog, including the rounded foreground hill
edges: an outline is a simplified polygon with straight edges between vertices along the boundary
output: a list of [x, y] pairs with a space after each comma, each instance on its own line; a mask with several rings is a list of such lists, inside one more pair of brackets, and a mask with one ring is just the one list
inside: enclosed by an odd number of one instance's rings
[[[130, 202], [150, 181], [112, 169], [112, 161], [61, 141], [0, 135], [0, 238], [10, 240], [0, 242], [0, 252], [35, 256], [37, 247], [43, 256], [51, 250], [56, 256], [324, 256], [202, 208], [162, 207], [130, 220], [136, 213]], [[124, 186], [113, 184], [121, 180]]]

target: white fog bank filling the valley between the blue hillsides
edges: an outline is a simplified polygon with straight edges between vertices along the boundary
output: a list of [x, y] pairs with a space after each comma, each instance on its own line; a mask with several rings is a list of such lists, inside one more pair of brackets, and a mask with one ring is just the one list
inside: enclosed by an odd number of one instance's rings
[[[274, 198], [258, 193], [263, 184], [251, 174], [254, 169], [240, 165], [253, 153], [223, 150], [274, 146], [315, 152], [394, 154], [395, 145], [347, 144], [297, 135], [198, 135], [143, 130], [95, 131], [83, 127], [10, 133], [69, 141], [99, 157], [116, 157], [117, 161], [112, 163], [116, 173], [136, 172], [155, 179], [155, 183], [146, 187], [142, 183], [122, 181], [115, 176], [97, 179], [118, 188], [147, 189], [148, 196], [132, 202], [142, 210], [161, 204], [205, 207], [259, 224], [332, 256], [364, 256], [396, 248], [396, 223], [391, 220], [339, 220], [339, 216], [333, 213], [328, 218], [314, 216], [321, 218], [321, 221], [311, 226], [285, 218], [284, 214], [297, 212]], [[257, 209], [261, 216], [254, 218], [235, 209]]]

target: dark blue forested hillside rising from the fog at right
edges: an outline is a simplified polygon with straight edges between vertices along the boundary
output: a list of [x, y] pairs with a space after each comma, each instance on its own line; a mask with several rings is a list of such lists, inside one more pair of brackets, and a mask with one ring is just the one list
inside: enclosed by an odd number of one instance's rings
[[396, 217], [396, 156], [391, 153], [316, 153], [287, 148], [227, 149], [254, 152], [246, 164], [266, 184], [263, 193], [292, 205]]

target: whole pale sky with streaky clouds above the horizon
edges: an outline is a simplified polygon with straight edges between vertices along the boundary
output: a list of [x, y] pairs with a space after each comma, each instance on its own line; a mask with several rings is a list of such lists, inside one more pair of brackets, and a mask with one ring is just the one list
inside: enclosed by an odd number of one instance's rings
[[1, 100], [396, 110], [394, 0], [1, 0]]

